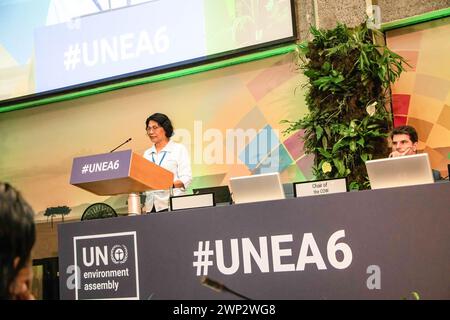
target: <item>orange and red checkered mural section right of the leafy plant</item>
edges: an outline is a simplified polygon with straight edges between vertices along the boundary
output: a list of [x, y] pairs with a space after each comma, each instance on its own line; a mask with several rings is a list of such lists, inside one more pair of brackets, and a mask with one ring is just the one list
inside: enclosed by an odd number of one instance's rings
[[408, 68], [392, 87], [394, 125], [412, 125], [431, 166], [448, 176], [450, 163], [450, 17], [388, 31], [390, 49]]

